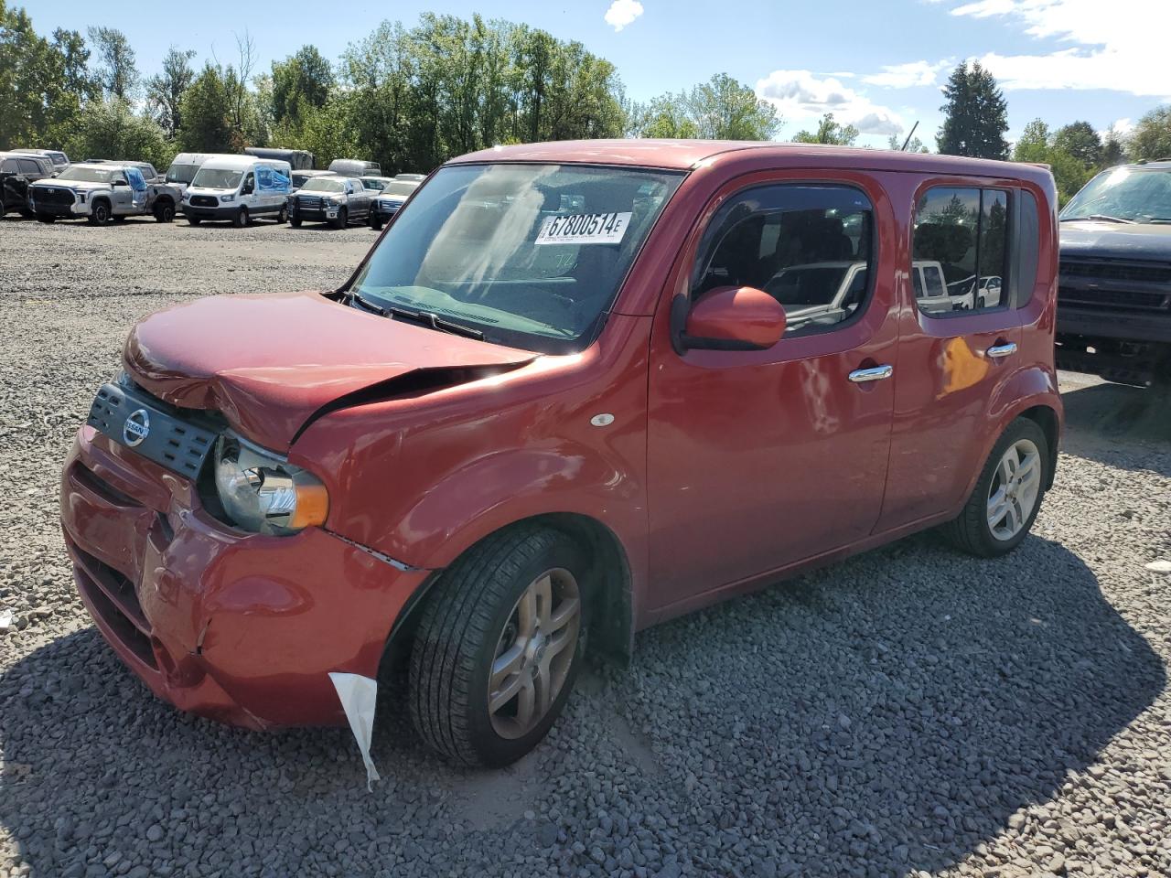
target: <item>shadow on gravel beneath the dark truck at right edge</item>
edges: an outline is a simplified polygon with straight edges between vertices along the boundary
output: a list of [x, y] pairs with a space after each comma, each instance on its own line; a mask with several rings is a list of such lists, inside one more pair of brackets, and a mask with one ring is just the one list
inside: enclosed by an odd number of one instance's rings
[[[1136, 465], [1129, 459], [1132, 454], [1119, 453], [1123, 441], [1171, 452], [1171, 389], [1103, 383], [1068, 390], [1061, 399], [1066, 406], [1062, 451], [1127, 469]], [[1164, 459], [1156, 469], [1171, 475], [1171, 462]]]

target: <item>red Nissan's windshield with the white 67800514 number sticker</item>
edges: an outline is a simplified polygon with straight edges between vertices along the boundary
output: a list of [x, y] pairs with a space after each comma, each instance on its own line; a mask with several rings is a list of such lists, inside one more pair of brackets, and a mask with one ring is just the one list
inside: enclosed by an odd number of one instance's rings
[[578, 350], [682, 179], [574, 165], [445, 167], [379, 241], [354, 290], [500, 344]]

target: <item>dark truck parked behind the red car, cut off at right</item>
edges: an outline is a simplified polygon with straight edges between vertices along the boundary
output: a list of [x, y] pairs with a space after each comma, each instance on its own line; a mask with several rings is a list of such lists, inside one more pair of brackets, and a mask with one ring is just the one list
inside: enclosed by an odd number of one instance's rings
[[1171, 380], [1171, 159], [1103, 171], [1061, 212], [1057, 365]]

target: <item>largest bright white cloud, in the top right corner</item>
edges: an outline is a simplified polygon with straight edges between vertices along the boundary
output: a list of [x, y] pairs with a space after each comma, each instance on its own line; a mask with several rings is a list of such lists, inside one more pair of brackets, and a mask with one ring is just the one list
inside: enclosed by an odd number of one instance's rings
[[1166, 0], [977, 0], [952, 15], [1004, 18], [1025, 26], [1038, 40], [1070, 48], [1057, 52], [980, 59], [1014, 89], [1107, 89], [1139, 96], [1167, 95]]

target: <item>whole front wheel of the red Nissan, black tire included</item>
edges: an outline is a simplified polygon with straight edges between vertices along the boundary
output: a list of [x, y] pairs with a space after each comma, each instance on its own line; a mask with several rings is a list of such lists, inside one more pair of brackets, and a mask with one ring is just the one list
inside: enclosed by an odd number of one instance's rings
[[586, 570], [564, 534], [520, 527], [444, 571], [411, 652], [411, 715], [432, 749], [500, 767], [545, 738], [584, 656]]

